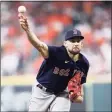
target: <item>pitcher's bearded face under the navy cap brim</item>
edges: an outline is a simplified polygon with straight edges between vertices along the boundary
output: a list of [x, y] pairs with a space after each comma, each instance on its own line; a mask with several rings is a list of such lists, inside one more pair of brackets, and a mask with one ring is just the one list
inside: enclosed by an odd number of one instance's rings
[[70, 53], [78, 54], [83, 47], [83, 43], [80, 38], [75, 38], [75, 39], [67, 40], [65, 42], [65, 46]]

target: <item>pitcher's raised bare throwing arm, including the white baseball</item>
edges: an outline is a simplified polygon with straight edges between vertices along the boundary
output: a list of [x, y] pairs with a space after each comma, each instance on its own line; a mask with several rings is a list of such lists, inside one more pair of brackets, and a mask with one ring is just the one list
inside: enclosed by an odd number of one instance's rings
[[18, 7], [19, 23], [23, 30], [26, 32], [31, 44], [42, 54], [44, 58], [48, 58], [48, 46], [44, 42], [40, 41], [31, 31], [27, 17], [25, 16], [25, 12], [26, 8], [24, 6]]

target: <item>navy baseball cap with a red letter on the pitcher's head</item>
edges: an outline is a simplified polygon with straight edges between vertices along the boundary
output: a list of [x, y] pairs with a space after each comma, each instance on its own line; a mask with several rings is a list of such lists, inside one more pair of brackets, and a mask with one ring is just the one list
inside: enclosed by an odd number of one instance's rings
[[77, 29], [69, 30], [65, 34], [65, 40], [74, 39], [75, 37], [79, 37], [80, 39], [84, 39], [81, 32]]

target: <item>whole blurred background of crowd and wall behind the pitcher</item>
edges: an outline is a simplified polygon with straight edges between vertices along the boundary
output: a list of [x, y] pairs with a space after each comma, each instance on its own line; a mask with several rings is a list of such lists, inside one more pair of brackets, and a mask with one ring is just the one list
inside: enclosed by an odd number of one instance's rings
[[82, 53], [90, 62], [85, 101], [73, 104], [71, 111], [110, 111], [111, 3], [1, 2], [1, 110], [27, 110], [43, 61], [19, 25], [17, 10], [24, 5], [31, 29], [45, 43], [62, 45], [65, 32], [72, 28], [85, 37]]

